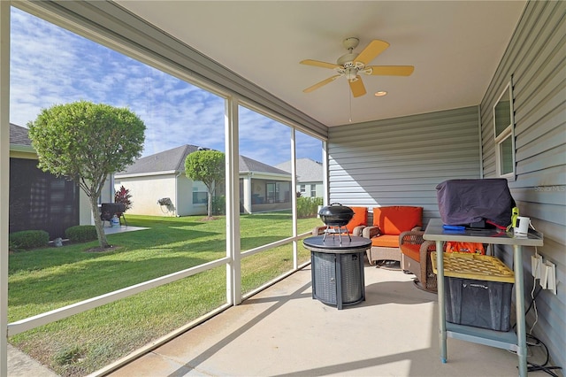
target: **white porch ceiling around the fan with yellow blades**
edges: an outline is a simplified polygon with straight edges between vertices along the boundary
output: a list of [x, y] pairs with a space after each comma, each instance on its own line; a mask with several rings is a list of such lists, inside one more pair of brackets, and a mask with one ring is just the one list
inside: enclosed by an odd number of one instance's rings
[[[479, 104], [525, 1], [117, 1], [130, 12], [328, 127]], [[414, 65], [409, 77], [363, 76], [353, 98], [341, 77], [300, 65], [335, 63], [342, 40], [390, 47], [371, 65]], [[387, 96], [373, 93], [386, 90]], [[351, 112], [350, 112], [351, 109]]]

